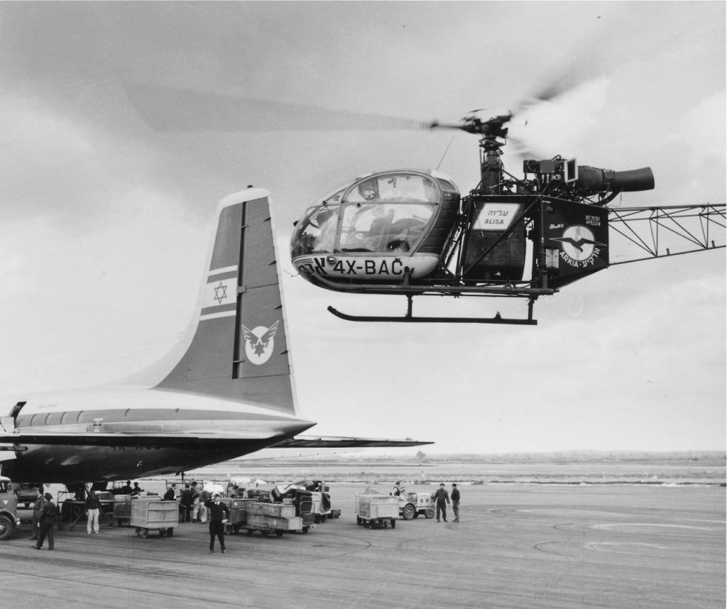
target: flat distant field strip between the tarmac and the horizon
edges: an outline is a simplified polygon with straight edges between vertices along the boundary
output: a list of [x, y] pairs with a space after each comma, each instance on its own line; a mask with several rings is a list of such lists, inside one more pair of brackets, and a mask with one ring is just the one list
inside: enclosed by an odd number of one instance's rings
[[188, 477], [227, 480], [251, 477], [269, 481], [322, 479], [329, 482], [474, 484], [678, 484], [725, 485], [724, 453], [611, 455], [437, 456], [345, 459], [236, 459], [187, 472]]

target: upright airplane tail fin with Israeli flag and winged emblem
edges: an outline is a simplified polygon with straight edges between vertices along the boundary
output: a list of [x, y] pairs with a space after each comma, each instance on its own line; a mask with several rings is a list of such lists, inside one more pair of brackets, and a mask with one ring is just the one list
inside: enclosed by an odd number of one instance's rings
[[297, 414], [269, 200], [249, 188], [220, 202], [196, 318], [156, 389]]

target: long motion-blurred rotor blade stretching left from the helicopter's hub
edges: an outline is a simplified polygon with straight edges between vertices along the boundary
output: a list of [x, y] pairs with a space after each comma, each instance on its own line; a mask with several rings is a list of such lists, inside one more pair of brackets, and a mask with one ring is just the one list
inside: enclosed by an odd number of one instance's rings
[[126, 82], [124, 89], [146, 124], [160, 132], [358, 131], [424, 126], [411, 118], [261, 100], [236, 92], [140, 82]]

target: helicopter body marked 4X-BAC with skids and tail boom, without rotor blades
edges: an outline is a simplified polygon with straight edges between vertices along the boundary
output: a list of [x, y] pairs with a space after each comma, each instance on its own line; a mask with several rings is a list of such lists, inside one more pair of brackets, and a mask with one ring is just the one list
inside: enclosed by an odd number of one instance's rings
[[[535, 325], [539, 297], [611, 264], [609, 230], [649, 258], [671, 255], [659, 249], [658, 228], [666, 225], [690, 243], [688, 251], [724, 247], [710, 239], [710, 229], [725, 227], [724, 205], [608, 208], [620, 193], [653, 189], [649, 167], [616, 172], [555, 156], [526, 159], [524, 177], [513, 176], [501, 159], [511, 118], [472, 114], [459, 124], [427, 125], [481, 137], [481, 180], [467, 195], [446, 174], [402, 169], [358, 177], [305, 211], [291, 239], [292, 263], [303, 278], [334, 291], [407, 299], [403, 318], [330, 312], [354, 321]], [[695, 217], [701, 235], [686, 223]], [[644, 220], [656, 226], [652, 244], [633, 229]], [[412, 299], [424, 294], [519, 297], [528, 301], [528, 316], [415, 317]]]

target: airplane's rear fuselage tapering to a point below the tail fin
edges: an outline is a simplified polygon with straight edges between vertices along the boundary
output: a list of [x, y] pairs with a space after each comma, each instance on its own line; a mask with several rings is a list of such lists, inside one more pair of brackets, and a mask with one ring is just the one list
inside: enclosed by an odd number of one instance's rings
[[[25, 400], [15, 429], [25, 437], [58, 435], [59, 443], [17, 444], [2, 472], [46, 483], [177, 474], [258, 451], [312, 426], [274, 408], [190, 393], [136, 387], [45, 393]], [[73, 435], [86, 440], [61, 443]], [[116, 443], [89, 444], [108, 435]]]

